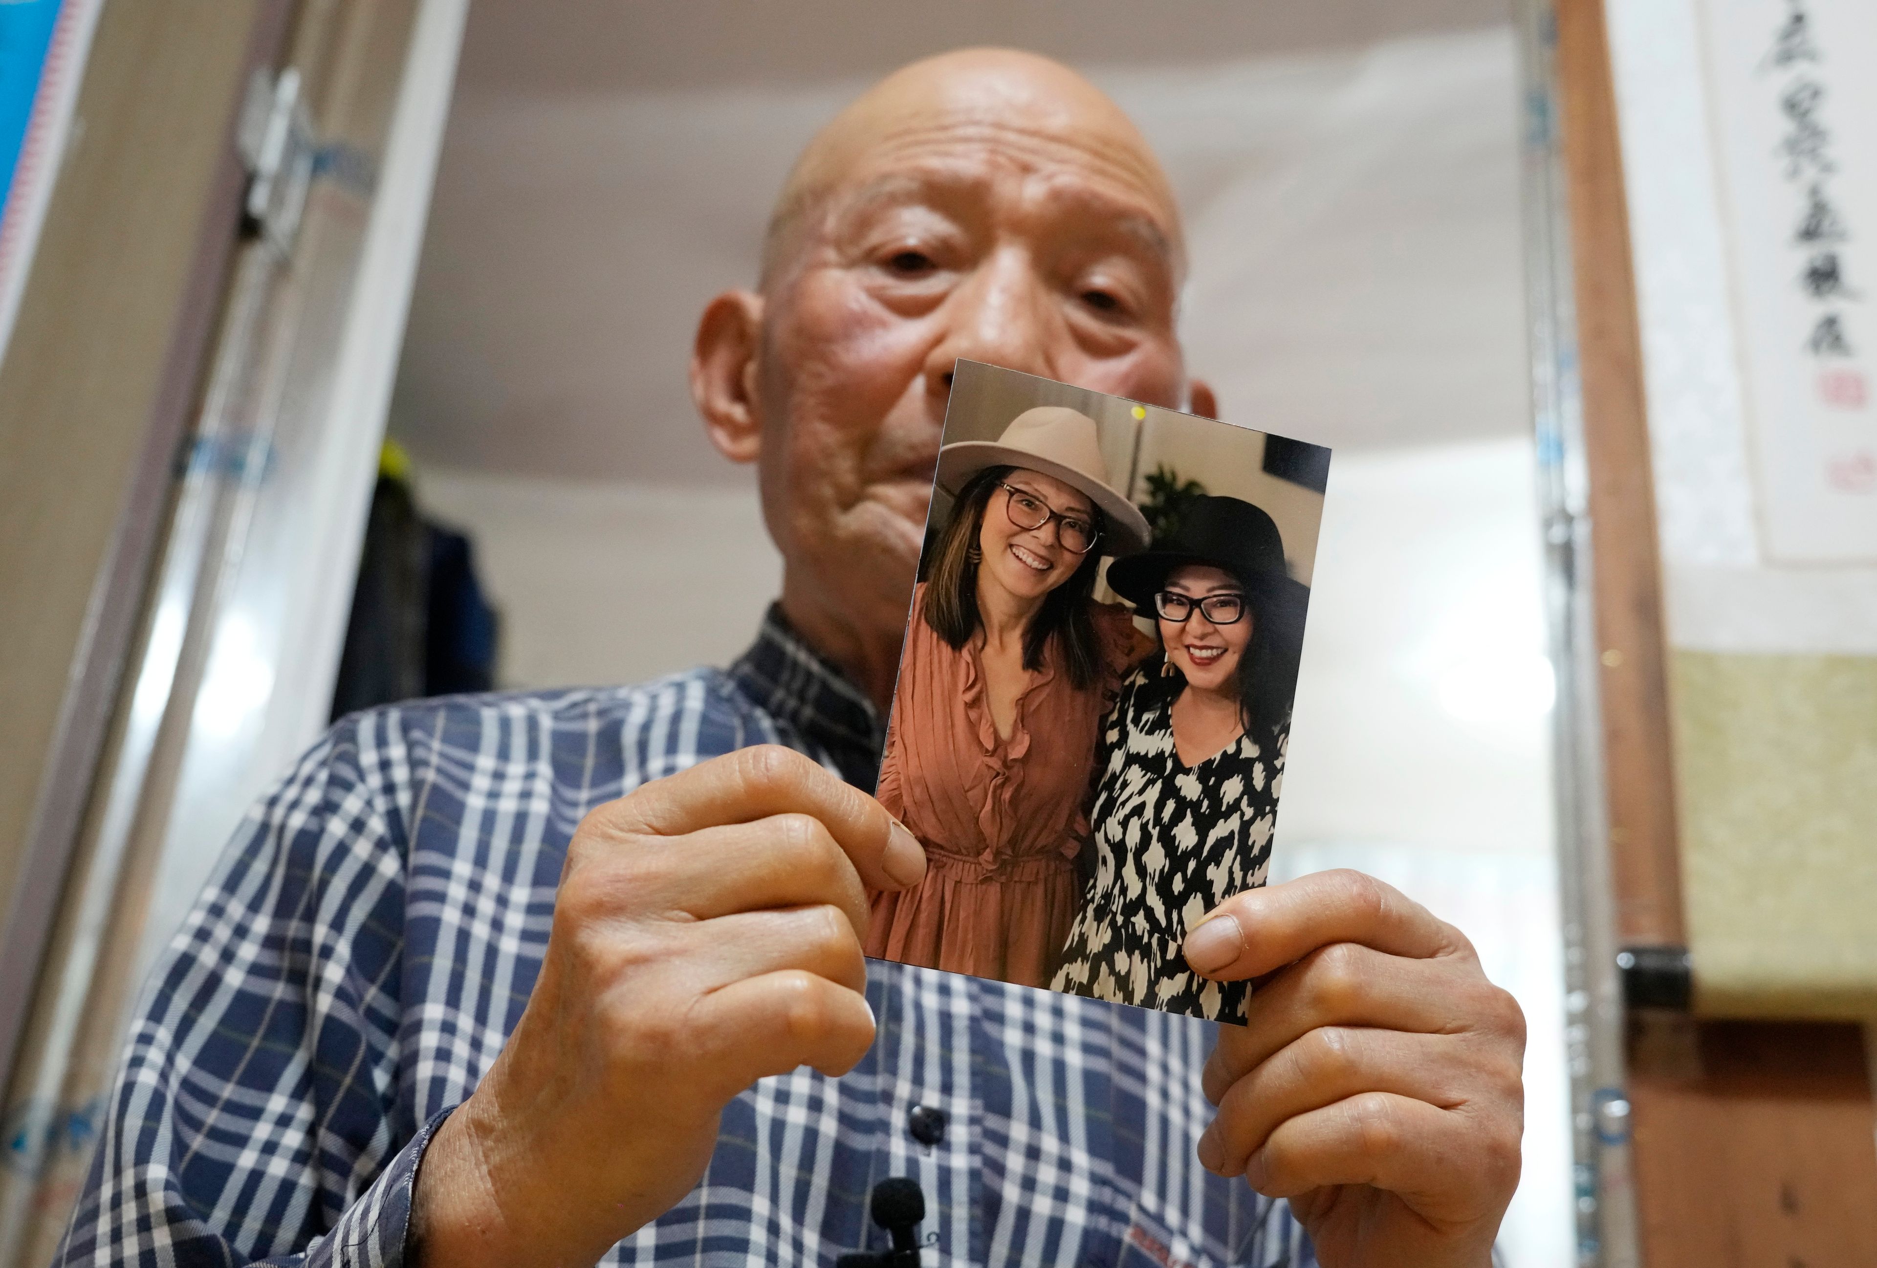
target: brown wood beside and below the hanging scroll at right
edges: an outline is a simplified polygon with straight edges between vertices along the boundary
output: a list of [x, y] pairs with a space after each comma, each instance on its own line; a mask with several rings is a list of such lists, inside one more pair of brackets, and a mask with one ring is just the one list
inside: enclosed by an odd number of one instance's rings
[[[1680, 945], [1661, 565], [1603, 0], [1558, 0], [1556, 13], [1616, 925], [1627, 945]], [[1877, 1268], [1877, 1107], [1856, 1026], [1637, 1015], [1627, 1060], [1648, 1268]]]

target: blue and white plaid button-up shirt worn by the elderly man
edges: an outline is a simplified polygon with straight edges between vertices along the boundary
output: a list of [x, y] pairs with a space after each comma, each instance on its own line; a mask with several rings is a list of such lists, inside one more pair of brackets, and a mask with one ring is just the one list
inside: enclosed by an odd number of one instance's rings
[[[437, 1124], [522, 1015], [582, 816], [755, 743], [871, 788], [880, 722], [771, 610], [728, 672], [340, 722], [244, 822], [156, 970], [54, 1262], [400, 1264]], [[1205, 1022], [873, 964], [878, 1039], [764, 1079], [702, 1184], [608, 1264], [828, 1264], [925, 1191], [927, 1264], [1305, 1266], [1194, 1157]], [[937, 1144], [908, 1131], [942, 1110]]]

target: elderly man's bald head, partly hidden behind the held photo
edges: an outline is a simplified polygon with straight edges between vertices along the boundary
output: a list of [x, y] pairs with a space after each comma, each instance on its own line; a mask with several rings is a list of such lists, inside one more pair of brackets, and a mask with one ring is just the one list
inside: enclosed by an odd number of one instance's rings
[[691, 385], [717, 448], [758, 465], [783, 613], [882, 709], [957, 362], [1211, 413], [1183, 276], [1141, 133], [1029, 53], [914, 62], [796, 161], [762, 289], [704, 309]]

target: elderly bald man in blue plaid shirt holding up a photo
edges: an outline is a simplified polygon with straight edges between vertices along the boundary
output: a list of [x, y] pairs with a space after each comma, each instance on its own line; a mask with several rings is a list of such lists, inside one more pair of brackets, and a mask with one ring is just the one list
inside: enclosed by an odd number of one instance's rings
[[833, 120], [691, 366], [785, 559], [756, 643], [336, 726], [158, 970], [62, 1262], [820, 1264], [897, 1174], [948, 1264], [1487, 1264], [1522, 1019], [1385, 885], [1199, 927], [1198, 972], [1271, 975], [1243, 1030], [860, 953], [863, 887], [925, 868], [856, 784], [952, 366], [1209, 415], [1181, 251], [1053, 62], [933, 58]]

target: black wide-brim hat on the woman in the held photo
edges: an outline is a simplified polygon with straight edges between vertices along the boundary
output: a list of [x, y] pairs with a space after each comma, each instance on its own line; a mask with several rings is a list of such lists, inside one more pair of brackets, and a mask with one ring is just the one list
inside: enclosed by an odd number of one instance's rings
[[1258, 619], [1282, 642], [1303, 640], [1303, 613], [1310, 587], [1284, 565], [1284, 536], [1261, 508], [1237, 497], [1198, 497], [1181, 514], [1175, 531], [1139, 555], [1107, 566], [1117, 595], [1152, 615], [1154, 595], [1175, 568], [1213, 565], [1235, 576]]

